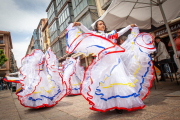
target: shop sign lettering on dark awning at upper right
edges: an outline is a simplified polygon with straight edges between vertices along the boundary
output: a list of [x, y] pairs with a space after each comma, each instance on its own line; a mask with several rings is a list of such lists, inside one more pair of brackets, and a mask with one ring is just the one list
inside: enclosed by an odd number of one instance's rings
[[[180, 29], [180, 23], [174, 24], [174, 25], [170, 25], [171, 32], [174, 32], [174, 31], [176, 31], [178, 29]], [[164, 35], [164, 34], [167, 34], [167, 29], [166, 28], [161, 29], [160, 31], [155, 32], [156, 36], [161, 36], [161, 35]]]

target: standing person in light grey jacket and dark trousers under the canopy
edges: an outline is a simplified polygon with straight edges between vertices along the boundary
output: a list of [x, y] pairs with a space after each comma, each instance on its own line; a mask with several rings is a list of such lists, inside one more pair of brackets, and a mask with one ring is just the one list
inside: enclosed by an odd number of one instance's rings
[[159, 64], [156, 64], [156, 67], [161, 70], [161, 79], [160, 81], [165, 81], [164, 78], [164, 65], [165, 63], [168, 63], [170, 61], [170, 56], [167, 52], [166, 46], [163, 42], [161, 42], [160, 37], [155, 38], [156, 48], [157, 48], [157, 54], [155, 56], [155, 62], [158, 62]]

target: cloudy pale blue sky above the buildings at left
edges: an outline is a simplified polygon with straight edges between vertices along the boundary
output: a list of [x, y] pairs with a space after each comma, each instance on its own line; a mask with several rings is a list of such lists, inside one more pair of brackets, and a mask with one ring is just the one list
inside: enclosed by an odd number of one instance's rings
[[0, 0], [0, 30], [11, 32], [13, 53], [17, 66], [25, 56], [28, 45], [41, 18], [47, 18], [46, 8], [51, 0]]

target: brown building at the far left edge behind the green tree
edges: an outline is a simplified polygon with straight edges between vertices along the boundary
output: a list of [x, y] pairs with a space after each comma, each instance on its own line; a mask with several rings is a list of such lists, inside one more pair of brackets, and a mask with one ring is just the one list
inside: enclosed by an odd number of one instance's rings
[[8, 58], [8, 61], [0, 68], [0, 77], [4, 77], [5, 74], [17, 71], [17, 64], [12, 52], [13, 45], [10, 32], [0, 31], [0, 49], [4, 50], [4, 54]]

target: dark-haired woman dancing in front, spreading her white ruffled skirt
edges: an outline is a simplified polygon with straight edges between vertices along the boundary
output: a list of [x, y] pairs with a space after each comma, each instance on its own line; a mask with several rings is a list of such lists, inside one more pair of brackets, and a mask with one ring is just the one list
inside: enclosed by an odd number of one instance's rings
[[[75, 26], [85, 33], [81, 34]], [[131, 27], [131, 34], [122, 47], [115, 44], [115, 39]], [[88, 66], [81, 86], [81, 94], [89, 101], [90, 109], [105, 112], [144, 108], [143, 100], [154, 79], [149, 56], [155, 50], [151, 35], [139, 34], [134, 24], [119, 32], [105, 33], [103, 21], [96, 22], [95, 31], [88, 30], [79, 22], [70, 24], [67, 30], [68, 53], [97, 56]]]

